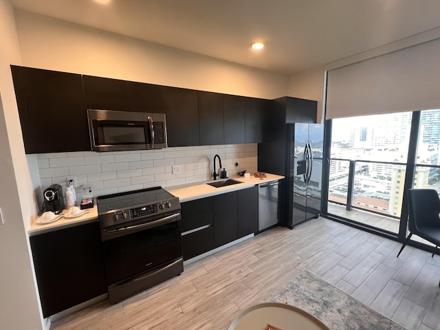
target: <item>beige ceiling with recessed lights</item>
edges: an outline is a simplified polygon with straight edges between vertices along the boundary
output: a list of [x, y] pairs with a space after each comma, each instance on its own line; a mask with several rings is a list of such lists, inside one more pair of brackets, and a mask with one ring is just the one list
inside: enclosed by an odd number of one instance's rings
[[[287, 76], [440, 26], [438, 0], [107, 1], [10, 0], [21, 10]], [[250, 49], [257, 40], [264, 50]]]

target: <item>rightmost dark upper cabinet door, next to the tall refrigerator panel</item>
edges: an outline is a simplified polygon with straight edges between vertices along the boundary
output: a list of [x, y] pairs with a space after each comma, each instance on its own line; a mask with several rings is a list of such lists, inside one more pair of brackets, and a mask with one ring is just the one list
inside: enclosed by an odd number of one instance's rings
[[245, 101], [245, 143], [264, 142], [266, 121], [270, 101], [260, 98], [246, 98]]

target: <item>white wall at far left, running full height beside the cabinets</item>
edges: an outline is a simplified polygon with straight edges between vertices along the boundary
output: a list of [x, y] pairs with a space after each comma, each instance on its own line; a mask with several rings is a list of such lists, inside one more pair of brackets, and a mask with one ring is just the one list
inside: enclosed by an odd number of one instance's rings
[[10, 63], [20, 63], [14, 12], [0, 0], [0, 327], [42, 329], [26, 228], [34, 194], [25, 158]]

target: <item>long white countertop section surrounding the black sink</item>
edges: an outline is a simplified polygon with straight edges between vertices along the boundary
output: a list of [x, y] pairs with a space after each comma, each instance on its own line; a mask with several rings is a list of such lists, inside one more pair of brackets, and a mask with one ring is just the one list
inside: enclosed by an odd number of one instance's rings
[[[274, 175], [269, 173], [265, 174], [266, 177], [264, 177], [263, 179], [260, 179], [259, 177], [254, 177], [254, 175], [251, 175], [250, 177], [240, 177], [239, 175], [229, 177], [229, 179], [240, 181], [241, 184], [232, 184], [231, 186], [224, 186], [220, 188], [215, 188], [206, 184], [207, 182], [213, 182], [213, 180], [211, 180], [206, 182], [195, 182], [193, 184], [185, 184], [181, 186], [171, 186], [166, 187], [165, 189], [176, 197], [179, 197], [179, 201], [183, 203], [185, 201], [192, 201], [193, 199], [220, 195], [225, 192], [241, 190], [249, 188], [251, 186], [255, 186], [256, 184], [264, 184], [265, 182], [276, 181], [284, 178], [281, 175]], [[217, 181], [221, 180], [223, 179], [217, 179]]]

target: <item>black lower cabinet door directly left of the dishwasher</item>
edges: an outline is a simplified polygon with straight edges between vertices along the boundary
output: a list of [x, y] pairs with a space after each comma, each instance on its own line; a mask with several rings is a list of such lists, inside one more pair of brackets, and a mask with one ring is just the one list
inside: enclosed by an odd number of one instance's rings
[[259, 192], [258, 186], [237, 191], [239, 238], [258, 232]]

